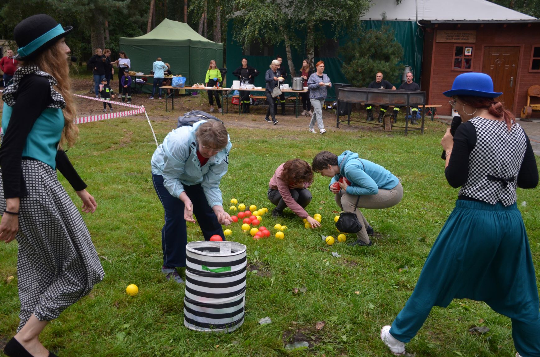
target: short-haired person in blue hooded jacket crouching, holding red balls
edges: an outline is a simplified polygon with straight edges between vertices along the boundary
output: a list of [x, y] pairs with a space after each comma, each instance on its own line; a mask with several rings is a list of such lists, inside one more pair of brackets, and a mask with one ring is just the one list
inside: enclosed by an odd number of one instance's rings
[[321, 176], [332, 177], [328, 188], [335, 194], [335, 201], [346, 212], [354, 212], [362, 229], [357, 240], [349, 245], [372, 245], [369, 236], [372, 226], [360, 208], [390, 208], [400, 203], [403, 187], [390, 171], [374, 162], [360, 159], [358, 154], [344, 151], [336, 156], [328, 151], [315, 155], [312, 168]]

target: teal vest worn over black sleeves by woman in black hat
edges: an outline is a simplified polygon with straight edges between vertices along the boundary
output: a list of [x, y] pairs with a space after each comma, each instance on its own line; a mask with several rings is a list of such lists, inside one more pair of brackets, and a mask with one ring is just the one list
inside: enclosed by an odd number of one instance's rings
[[[7, 134], [12, 108], [4, 103], [2, 131]], [[23, 157], [31, 157], [56, 169], [56, 152], [64, 129], [62, 109], [46, 108], [37, 118], [26, 138]]]

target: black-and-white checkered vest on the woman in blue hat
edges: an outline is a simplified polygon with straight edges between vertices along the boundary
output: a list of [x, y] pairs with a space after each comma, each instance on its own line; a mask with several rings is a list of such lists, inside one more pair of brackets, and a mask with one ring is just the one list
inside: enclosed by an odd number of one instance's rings
[[506, 122], [477, 116], [469, 120], [476, 129], [476, 146], [469, 155], [469, 176], [460, 196], [509, 206], [516, 202], [517, 174], [527, 141], [517, 123], [508, 131]]

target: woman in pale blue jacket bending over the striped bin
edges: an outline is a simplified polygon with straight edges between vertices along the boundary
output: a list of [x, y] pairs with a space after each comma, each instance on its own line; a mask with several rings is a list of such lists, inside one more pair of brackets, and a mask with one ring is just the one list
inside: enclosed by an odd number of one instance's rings
[[232, 219], [223, 209], [219, 183], [231, 147], [222, 122], [201, 120], [168, 133], [152, 156], [152, 181], [165, 209], [161, 272], [167, 280], [184, 283], [176, 268], [186, 266], [186, 221], [194, 223], [193, 214], [206, 241], [213, 235], [225, 241], [221, 224]]

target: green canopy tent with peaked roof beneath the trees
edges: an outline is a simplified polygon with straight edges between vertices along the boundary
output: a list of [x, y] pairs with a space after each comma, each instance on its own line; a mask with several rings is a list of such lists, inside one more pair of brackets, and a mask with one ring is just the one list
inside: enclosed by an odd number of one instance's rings
[[183, 22], [163, 20], [139, 37], [120, 37], [120, 50], [131, 60], [131, 70], [149, 74], [158, 57], [171, 65], [173, 74], [186, 77], [186, 85], [203, 83], [210, 60], [223, 66], [223, 44], [199, 35]]

